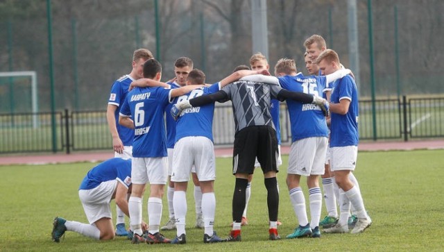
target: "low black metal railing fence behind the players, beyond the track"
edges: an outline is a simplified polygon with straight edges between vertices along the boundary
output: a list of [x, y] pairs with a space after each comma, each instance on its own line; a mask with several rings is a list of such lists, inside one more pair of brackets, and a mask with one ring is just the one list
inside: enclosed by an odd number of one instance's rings
[[[404, 140], [444, 137], [444, 97], [359, 101], [361, 140]], [[291, 142], [287, 106], [281, 103], [282, 143]], [[54, 119], [53, 119], [54, 117]], [[112, 149], [105, 110], [0, 114], [0, 154]], [[234, 140], [231, 106], [216, 106], [215, 145]], [[52, 126], [52, 124], [55, 126]]]

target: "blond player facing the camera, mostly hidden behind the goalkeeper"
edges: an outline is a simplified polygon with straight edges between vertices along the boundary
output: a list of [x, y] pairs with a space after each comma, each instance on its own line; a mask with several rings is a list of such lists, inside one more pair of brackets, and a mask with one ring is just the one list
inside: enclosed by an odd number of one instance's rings
[[[268, 60], [266, 60], [265, 56], [262, 53], [255, 53], [250, 57], [250, 67], [253, 70], [267, 70], [270, 68], [268, 65]], [[275, 125], [276, 137], [278, 139], [278, 167], [282, 165], [282, 157], [280, 153], [280, 121], [279, 121], [279, 101], [276, 99], [271, 100], [271, 117], [273, 118], [273, 124]], [[255, 161], [255, 167], [260, 167], [259, 161]], [[253, 174], [248, 175], [248, 185], [246, 189], [246, 203], [244, 213], [242, 214], [241, 226], [248, 225], [247, 219], [247, 209], [248, 209], [248, 201], [250, 201], [251, 195], [251, 181], [253, 180]], [[278, 220], [278, 226], [282, 223]]]

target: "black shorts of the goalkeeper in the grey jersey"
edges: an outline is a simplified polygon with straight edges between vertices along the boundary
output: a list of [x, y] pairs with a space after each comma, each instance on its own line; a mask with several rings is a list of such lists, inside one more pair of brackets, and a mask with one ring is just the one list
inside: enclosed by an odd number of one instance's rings
[[234, 135], [233, 174], [253, 174], [255, 159], [262, 171], [278, 172], [276, 131], [271, 126], [249, 126]]

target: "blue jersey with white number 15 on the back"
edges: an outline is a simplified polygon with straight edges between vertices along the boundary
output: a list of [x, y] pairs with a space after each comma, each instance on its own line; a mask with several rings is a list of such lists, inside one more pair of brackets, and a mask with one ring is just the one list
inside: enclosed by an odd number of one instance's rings
[[[278, 77], [280, 85], [289, 91], [304, 92], [322, 96], [326, 86], [325, 76], [296, 76]], [[295, 142], [307, 137], [328, 137], [328, 128], [323, 112], [313, 103], [302, 104], [287, 99], [291, 121], [291, 141]]]

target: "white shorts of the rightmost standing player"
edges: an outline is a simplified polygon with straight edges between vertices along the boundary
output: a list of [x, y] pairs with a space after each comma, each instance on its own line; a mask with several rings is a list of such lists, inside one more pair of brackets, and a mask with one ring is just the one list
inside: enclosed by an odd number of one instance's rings
[[358, 156], [358, 146], [343, 146], [330, 148], [331, 160], [330, 170], [350, 170], [354, 171]]

